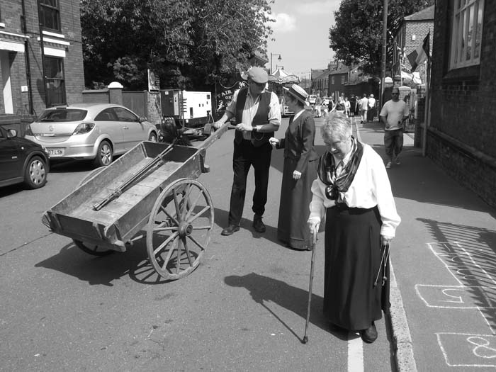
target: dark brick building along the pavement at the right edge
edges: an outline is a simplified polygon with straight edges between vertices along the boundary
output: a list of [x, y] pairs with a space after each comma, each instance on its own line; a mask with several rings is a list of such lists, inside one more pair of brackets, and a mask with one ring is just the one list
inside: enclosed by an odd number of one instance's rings
[[434, 162], [492, 206], [496, 206], [495, 19], [493, 1], [436, 1], [426, 147]]

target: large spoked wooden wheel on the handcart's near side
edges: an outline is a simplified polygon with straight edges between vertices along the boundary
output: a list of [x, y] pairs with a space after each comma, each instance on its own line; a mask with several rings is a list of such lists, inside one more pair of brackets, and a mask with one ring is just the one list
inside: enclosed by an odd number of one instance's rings
[[148, 257], [155, 271], [176, 280], [200, 264], [213, 228], [210, 194], [194, 179], [167, 186], [153, 206], [147, 226]]

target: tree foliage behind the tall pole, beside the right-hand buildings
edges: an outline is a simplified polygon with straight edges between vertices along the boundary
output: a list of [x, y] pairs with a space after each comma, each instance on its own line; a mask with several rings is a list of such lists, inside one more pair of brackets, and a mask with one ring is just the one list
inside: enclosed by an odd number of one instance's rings
[[[388, 0], [388, 30], [395, 34], [402, 18], [434, 4], [434, 0]], [[347, 65], [362, 62], [366, 74], [380, 75], [383, 45], [383, 1], [342, 0], [329, 28], [329, 47], [335, 58]], [[388, 35], [386, 68], [393, 60], [393, 43]]]

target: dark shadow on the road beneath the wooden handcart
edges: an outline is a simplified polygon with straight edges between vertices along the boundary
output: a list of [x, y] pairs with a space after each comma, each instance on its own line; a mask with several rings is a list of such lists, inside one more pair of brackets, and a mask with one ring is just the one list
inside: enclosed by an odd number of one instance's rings
[[164, 284], [166, 280], [154, 271], [144, 244], [136, 244], [127, 252], [113, 252], [95, 257], [82, 252], [74, 243], [60, 249], [58, 254], [35, 264], [35, 267], [52, 269], [86, 281], [91, 286], [113, 286], [113, 281], [128, 275], [143, 284]]

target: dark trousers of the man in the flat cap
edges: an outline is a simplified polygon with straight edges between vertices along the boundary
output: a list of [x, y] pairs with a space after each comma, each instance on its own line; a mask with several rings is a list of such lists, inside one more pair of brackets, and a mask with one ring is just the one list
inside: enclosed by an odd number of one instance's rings
[[247, 192], [247, 176], [251, 166], [255, 171], [255, 193], [253, 195], [252, 210], [257, 215], [263, 215], [265, 212], [272, 146], [269, 142], [266, 142], [259, 147], [254, 147], [249, 140], [242, 140], [239, 144], [235, 141], [234, 145], [232, 170], [235, 175], [232, 181], [229, 225], [239, 226], [243, 215], [244, 197]]

